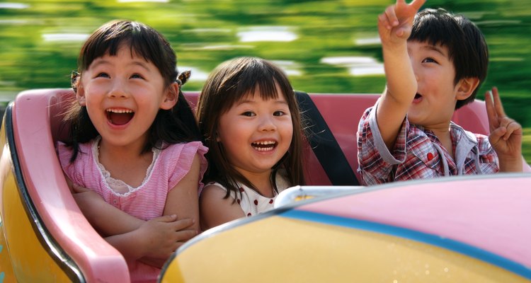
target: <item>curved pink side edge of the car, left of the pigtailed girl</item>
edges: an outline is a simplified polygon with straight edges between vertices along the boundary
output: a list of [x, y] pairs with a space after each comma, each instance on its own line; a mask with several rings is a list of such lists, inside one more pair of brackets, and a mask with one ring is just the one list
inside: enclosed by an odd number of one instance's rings
[[86, 282], [129, 282], [124, 258], [86, 221], [55, 154], [55, 141], [64, 136], [62, 113], [72, 94], [67, 89], [23, 91], [13, 103], [13, 133], [23, 182], [38, 214], [32, 215], [33, 221], [45, 228], [36, 233], [55, 240], [58, 247], [43, 243], [45, 250], [59, 248], [59, 254], [72, 258], [75, 265], [69, 268], [81, 273]]

